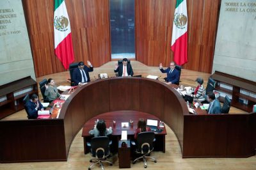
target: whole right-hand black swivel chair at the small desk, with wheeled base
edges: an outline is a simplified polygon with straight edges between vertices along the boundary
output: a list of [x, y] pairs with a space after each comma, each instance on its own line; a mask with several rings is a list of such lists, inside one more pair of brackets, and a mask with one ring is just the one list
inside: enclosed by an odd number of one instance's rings
[[138, 134], [137, 143], [134, 141], [131, 142], [132, 145], [136, 147], [135, 152], [142, 154], [141, 157], [136, 158], [132, 164], [135, 164], [137, 160], [143, 158], [144, 167], [147, 167], [147, 158], [151, 158], [156, 163], [156, 158], [149, 157], [148, 155], [152, 150], [154, 150], [153, 142], [155, 141], [155, 134], [154, 132], [141, 132]]

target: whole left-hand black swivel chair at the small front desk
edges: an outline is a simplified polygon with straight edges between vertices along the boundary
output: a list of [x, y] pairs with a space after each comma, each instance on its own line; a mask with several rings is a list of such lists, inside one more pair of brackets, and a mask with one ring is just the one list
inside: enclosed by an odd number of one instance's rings
[[107, 136], [100, 136], [100, 137], [93, 137], [90, 143], [86, 143], [88, 147], [90, 147], [91, 156], [94, 157], [90, 160], [93, 164], [88, 167], [90, 170], [96, 164], [99, 164], [101, 169], [104, 169], [103, 162], [113, 165], [112, 162], [109, 162], [107, 157], [110, 155], [109, 145], [111, 141], [109, 141], [109, 137]]

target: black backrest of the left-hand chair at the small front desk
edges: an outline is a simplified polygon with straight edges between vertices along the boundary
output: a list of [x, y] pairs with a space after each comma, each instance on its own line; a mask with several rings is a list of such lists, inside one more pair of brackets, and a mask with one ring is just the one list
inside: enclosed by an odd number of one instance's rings
[[93, 157], [103, 158], [109, 155], [109, 138], [107, 136], [93, 137], [91, 140]]

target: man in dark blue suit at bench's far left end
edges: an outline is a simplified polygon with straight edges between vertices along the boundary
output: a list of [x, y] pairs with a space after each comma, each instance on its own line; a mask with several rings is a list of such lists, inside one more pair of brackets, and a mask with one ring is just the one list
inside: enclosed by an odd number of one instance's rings
[[43, 105], [38, 100], [36, 94], [31, 95], [30, 100], [26, 102], [26, 111], [29, 119], [36, 119], [38, 117], [38, 111], [44, 111]]

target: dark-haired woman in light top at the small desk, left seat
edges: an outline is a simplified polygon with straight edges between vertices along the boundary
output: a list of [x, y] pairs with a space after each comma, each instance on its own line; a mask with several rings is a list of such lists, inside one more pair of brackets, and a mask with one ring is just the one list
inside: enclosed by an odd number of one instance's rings
[[104, 120], [99, 120], [97, 122], [96, 127], [89, 131], [90, 135], [94, 135], [94, 137], [99, 136], [107, 136], [112, 134], [113, 130], [112, 127], [106, 128], [106, 123]]

